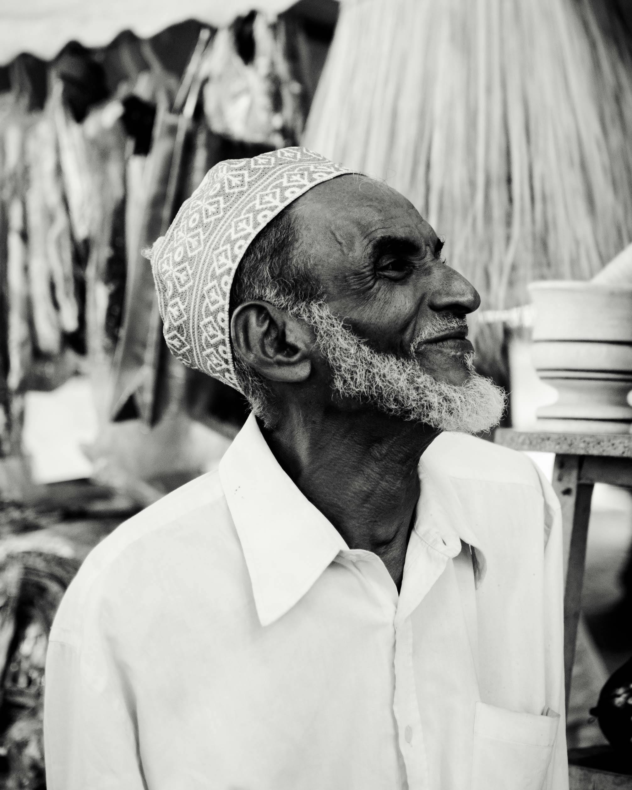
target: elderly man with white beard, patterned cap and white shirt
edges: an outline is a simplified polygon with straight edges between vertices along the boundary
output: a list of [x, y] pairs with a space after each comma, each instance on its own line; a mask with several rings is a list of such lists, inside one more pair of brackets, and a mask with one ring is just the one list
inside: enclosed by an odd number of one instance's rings
[[468, 436], [479, 297], [307, 149], [213, 167], [152, 250], [164, 335], [253, 413], [96, 547], [47, 659], [49, 790], [564, 790], [559, 506]]

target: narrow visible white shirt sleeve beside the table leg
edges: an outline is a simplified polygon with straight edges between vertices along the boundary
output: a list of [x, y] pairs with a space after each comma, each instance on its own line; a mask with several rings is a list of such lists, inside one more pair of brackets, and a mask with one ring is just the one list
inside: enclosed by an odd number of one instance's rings
[[537, 468], [544, 495], [544, 625], [547, 704], [559, 713], [559, 729], [547, 773], [546, 790], [568, 790], [566, 699], [564, 695], [564, 570], [562, 511], [551, 483]]

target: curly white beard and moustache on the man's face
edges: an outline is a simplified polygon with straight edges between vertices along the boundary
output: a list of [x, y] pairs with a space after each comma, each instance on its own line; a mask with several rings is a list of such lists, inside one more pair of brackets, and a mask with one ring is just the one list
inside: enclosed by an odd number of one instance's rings
[[412, 344], [410, 358], [376, 352], [336, 318], [324, 302], [297, 311], [316, 333], [318, 346], [333, 373], [333, 392], [373, 404], [381, 412], [425, 423], [439, 431], [476, 434], [498, 425], [506, 407], [504, 391], [465, 363], [469, 377], [461, 386], [438, 382], [422, 370], [413, 350], [424, 337], [461, 326], [465, 319], [438, 316]]

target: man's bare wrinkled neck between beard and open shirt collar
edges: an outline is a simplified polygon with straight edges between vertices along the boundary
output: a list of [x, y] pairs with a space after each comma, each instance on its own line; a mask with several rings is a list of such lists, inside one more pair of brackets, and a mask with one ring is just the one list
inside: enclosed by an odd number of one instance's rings
[[300, 491], [349, 548], [373, 551], [401, 588], [419, 499], [419, 457], [438, 435], [380, 415], [284, 416], [264, 436]]

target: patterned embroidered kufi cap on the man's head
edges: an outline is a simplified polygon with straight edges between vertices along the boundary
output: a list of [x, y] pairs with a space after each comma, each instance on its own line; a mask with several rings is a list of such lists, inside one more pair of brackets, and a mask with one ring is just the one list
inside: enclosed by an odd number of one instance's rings
[[285, 206], [312, 186], [349, 172], [304, 148], [229, 159], [209, 170], [148, 256], [173, 355], [241, 391], [228, 322], [239, 261]]

